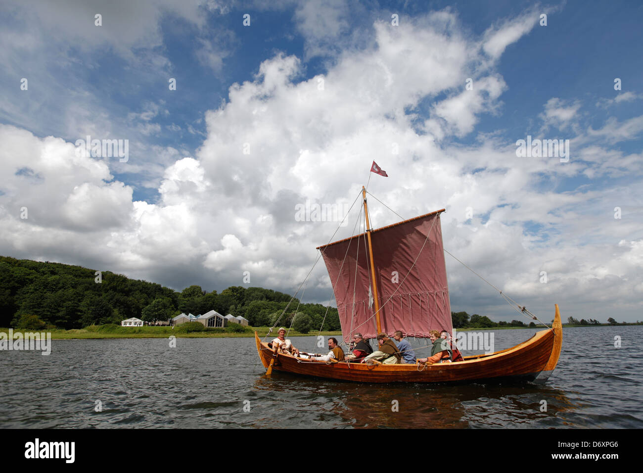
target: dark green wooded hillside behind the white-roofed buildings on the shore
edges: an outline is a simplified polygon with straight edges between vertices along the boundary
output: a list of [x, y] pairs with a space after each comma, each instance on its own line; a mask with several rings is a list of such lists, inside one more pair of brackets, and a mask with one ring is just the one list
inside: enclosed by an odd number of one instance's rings
[[[271, 326], [291, 301], [290, 295], [264, 288], [231, 286], [217, 293], [190, 286], [176, 292], [122, 274], [97, 273], [82, 266], [0, 256], [0, 327], [37, 328], [40, 323], [42, 328], [76, 329], [210, 310], [241, 315], [251, 326]], [[289, 326], [296, 310], [293, 328], [301, 333], [320, 329], [322, 321], [324, 331], [340, 329], [336, 308], [327, 311], [321, 304], [299, 302], [293, 299], [280, 325]]]

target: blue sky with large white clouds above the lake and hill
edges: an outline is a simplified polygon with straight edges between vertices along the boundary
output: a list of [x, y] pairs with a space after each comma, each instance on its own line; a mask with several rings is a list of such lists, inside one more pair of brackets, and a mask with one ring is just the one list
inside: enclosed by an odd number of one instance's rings
[[[294, 205], [352, 201], [375, 159], [390, 178], [369, 190], [446, 207], [445, 247], [514, 299], [643, 319], [640, 3], [4, 4], [1, 254], [293, 292], [334, 231]], [[87, 134], [129, 140], [127, 162], [71, 158]], [[527, 135], [570, 161], [517, 157]], [[454, 310], [514, 318], [459, 271]]]

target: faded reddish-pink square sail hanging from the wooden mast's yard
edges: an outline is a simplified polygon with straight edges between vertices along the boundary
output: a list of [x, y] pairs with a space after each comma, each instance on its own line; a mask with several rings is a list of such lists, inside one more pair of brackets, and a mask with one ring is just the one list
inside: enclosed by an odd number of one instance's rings
[[[452, 332], [440, 212], [372, 230], [379, 319], [392, 337], [428, 338], [430, 330]], [[428, 236], [428, 237], [427, 237]], [[368, 240], [360, 234], [320, 246], [334, 285], [341, 333], [377, 337], [375, 304], [369, 303]]]

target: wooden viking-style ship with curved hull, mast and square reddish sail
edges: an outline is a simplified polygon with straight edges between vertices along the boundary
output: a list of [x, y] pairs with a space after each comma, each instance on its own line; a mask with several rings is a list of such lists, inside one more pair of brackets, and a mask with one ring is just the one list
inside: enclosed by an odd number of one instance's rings
[[[343, 339], [352, 340], [354, 333], [365, 339], [381, 332], [392, 337], [395, 330], [416, 338], [428, 338], [431, 329], [452, 333], [440, 227], [444, 209], [372, 230], [364, 187], [362, 197], [366, 231], [318, 247], [334, 284]], [[552, 327], [521, 344], [429, 366], [308, 360], [270, 348], [256, 332], [255, 340], [268, 374], [274, 369], [369, 383], [543, 383], [556, 367], [563, 341], [560, 313], [557, 304], [554, 307]]]

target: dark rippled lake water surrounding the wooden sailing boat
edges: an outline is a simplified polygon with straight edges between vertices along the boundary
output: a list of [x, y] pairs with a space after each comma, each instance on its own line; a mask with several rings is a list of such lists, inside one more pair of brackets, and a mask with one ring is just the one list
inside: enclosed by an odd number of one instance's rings
[[[496, 330], [494, 348], [535, 331]], [[565, 328], [556, 371], [541, 386], [267, 378], [253, 338], [177, 339], [176, 348], [167, 339], [53, 340], [49, 356], [0, 351], [0, 427], [640, 429], [642, 335], [643, 326]], [[315, 342], [293, 338], [306, 351], [320, 351]]]

